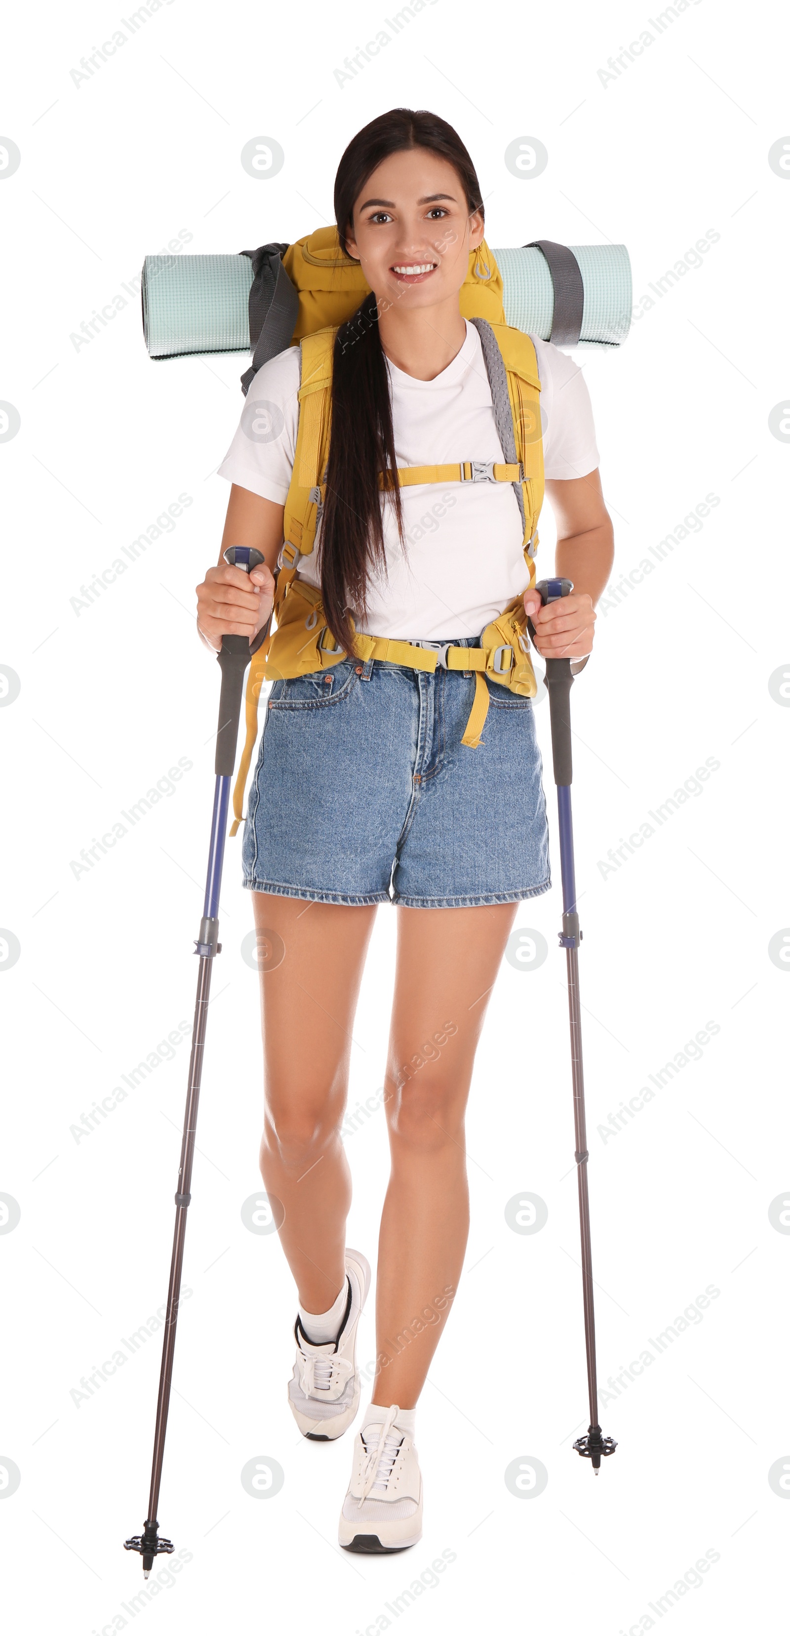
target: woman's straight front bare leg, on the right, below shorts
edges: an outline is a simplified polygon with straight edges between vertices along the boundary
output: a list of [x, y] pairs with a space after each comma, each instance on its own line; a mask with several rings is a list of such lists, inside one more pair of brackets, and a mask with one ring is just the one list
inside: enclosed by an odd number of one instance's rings
[[463, 1119], [517, 906], [397, 910], [375, 1404], [414, 1409], [458, 1289], [469, 1230]]

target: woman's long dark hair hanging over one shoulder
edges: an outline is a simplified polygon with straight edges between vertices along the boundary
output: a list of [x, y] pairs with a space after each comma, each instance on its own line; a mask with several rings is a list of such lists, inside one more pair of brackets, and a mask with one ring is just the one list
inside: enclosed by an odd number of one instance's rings
[[[335, 177], [335, 221], [343, 255], [353, 227], [353, 204], [368, 177], [389, 154], [425, 147], [450, 160], [466, 195], [469, 214], [483, 214], [474, 165], [451, 124], [435, 113], [391, 108], [371, 119], [348, 142]], [[321, 524], [321, 596], [329, 630], [353, 653], [348, 612], [365, 615], [368, 574], [384, 566], [383, 491], [378, 473], [396, 471], [393, 406], [386, 358], [371, 291], [342, 324], [332, 363], [332, 430]], [[319, 473], [321, 478], [321, 473]], [[401, 489], [393, 478], [393, 502], [402, 542]]]

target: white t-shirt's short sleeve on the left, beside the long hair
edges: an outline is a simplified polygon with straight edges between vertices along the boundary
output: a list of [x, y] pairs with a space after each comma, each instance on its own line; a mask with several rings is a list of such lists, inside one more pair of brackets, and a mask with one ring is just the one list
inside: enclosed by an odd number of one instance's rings
[[299, 424], [299, 348], [263, 363], [247, 393], [221, 478], [285, 506], [296, 458]]

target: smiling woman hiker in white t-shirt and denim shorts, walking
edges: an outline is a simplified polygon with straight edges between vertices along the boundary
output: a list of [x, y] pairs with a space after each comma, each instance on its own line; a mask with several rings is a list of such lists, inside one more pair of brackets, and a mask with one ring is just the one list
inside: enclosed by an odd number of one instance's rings
[[[463, 1121], [486, 998], [517, 905], [551, 883], [535, 682], [515, 685], [532, 677], [525, 614], [545, 658], [589, 654], [613, 553], [581, 371], [546, 342], [461, 316], [484, 211], [453, 128], [404, 108], [373, 119], [342, 155], [334, 203], [340, 252], [371, 294], [327, 342], [316, 540], [311, 548], [291, 527], [281, 558], [288, 594], [267, 659], [275, 679], [242, 856], [258, 933], [285, 947], [262, 980], [260, 1170], [285, 1207], [280, 1240], [299, 1301], [288, 1397], [314, 1440], [340, 1436], [358, 1412], [355, 1338], [370, 1266], [345, 1247], [340, 1126], [376, 905], [397, 910], [376, 1376], [340, 1513], [340, 1544], [393, 1551], [422, 1533], [415, 1405], [465, 1258]], [[507, 407], [507, 394], [494, 404], [489, 380], [497, 330], [505, 365], [507, 335], [533, 345], [541, 414], [522, 458], [536, 458], [541, 437], [554, 571], [574, 582], [543, 609], [528, 589], [535, 486], [509, 465], [497, 432]], [[213, 649], [224, 633], [252, 641], [272, 609], [299, 481], [299, 416], [312, 412], [304, 358], [290, 347], [258, 370], [219, 468], [232, 483], [222, 550], [255, 546], [267, 566], [247, 579], [221, 555], [208, 569], [198, 630]], [[319, 420], [311, 425], [319, 435]], [[417, 481], [404, 478], [425, 466]], [[435, 468], [445, 468], [438, 479]]]

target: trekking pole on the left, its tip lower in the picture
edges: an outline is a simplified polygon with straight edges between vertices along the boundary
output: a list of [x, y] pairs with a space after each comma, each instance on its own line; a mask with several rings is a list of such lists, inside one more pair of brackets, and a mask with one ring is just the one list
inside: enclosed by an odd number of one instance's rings
[[[260, 551], [250, 546], [231, 545], [222, 553], [232, 568], [242, 568], [250, 574], [263, 561]], [[263, 641], [268, 622], [255, 636], [255, 649]], [[236, 764], [236, 741], [239, 736], [239, 715], [242, 705], [244, 672], [255, 651], [247, 636], [222, 636], [222, 648], [218, 653], [218, 664], [222, 671], [219, 692], [219, 721], [216, 735], [214, 757], [214, 813], [211, 818], [211, 846], [208, 854], [206, 897], [203, 903], [203, 919], [200, 937], [195, 939], [195, 952], [200, 955], [198, 996], [195, 1000], [195, 1022], [191, 1029], [190, 1076], [186, 1086], [186, 1109], [183, 1116], [182, 1163], [178, 1166], [178, 1188], [175, 1194], [175, 1232], [173, 1253], [170, 1260], [170, 1286], [167, 1291], [167, 1319], [162, 1337], [162, 1368], [159, 1374], [157, 1425], [154, 1432], [154, 1464], [150, 1471], [150, 1495], [146, 1526], [142, 1535], [124, 1539], [126, 1551], [139, 1551], [142, 1556], [142, 1574], [147, 1579], [154, 1566], [154, 1557], [162, 1551], [173, 1551], [172, 1539], [159, 1538], [159, 1484], [162, 1481], [162, 1458], [165, 1453], [167, 1410], [170, 1404], [170, 1379], [173, 1373], [175, 1325], [178, 1319], [178, 1299], [182, 1292], [183, 1240], [186, 1234], [186, 1209], [190, 1206], [191, 1160], [195, 1153], [195, 1129], [198, 1124], [200, 1080], [203, 1072], [203, 1045], [206, 1042], [206, 1013], [211, 987], [211, 965], [222, 944], [218, 942], [219, 931], [219, 890], [222, 885], [222, 857], [227, 831], [227, 807], [231, 798], [231, 779]]]

